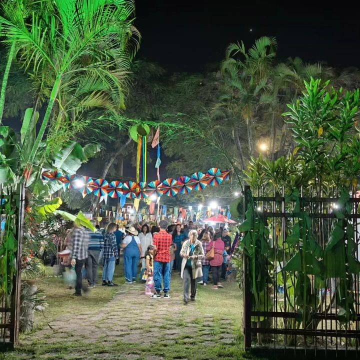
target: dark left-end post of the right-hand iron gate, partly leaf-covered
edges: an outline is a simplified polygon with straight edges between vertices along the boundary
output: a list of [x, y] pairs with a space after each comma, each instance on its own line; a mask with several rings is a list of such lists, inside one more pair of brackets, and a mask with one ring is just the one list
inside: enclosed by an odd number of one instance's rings
[[[250, 191], [250, 186], [245, 185], [244, 193], [244, 203], [243, 203], [243, 216], [245, 220], [245, 213], [247, 211], [248, 203], [248, 191]], [[243, 257], [243, 321], [244, 321], [244, 346], [245, 349], [251, 348], [251, 293], [248, 279], [248, 264], [247, 264], [247, 255], [245, 251], [242, 254]]]

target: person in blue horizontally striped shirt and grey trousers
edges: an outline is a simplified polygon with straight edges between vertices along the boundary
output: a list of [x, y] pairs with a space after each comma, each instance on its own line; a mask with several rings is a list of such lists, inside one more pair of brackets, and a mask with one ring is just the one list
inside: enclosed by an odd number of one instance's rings
[[[94, 224], [93, 224], [94, 225]], [[87, 247], [87, 259], [85, 262], [88, 287], [95, 287], [97, 278], [97, 266], [100, 251], [103, 247], [103, 236], [100, 231], [87, 230], [89, 236]]]

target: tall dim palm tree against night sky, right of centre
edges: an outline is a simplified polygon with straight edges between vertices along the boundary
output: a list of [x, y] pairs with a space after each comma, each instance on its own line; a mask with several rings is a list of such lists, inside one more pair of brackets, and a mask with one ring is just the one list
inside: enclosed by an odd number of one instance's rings
[[[273, 100], [270, 76], [275, 49], [276, 39], [267, 36], [257, 39], [248, 51], [243, 42], [231, 43], [221, 65], [225, 92], [222, 99], [225, 101], [216, 107], [230, 110], [234, 117], [238, 116], [245, 123], [249, 156], [254, 153], [253, 122], [256, 112], [262, 105], [268, 105]], [[240, 58], [235, 58], [238, 54]], [[235, 144], [238, 151], [242, 152], [238, 141], [238, 118], [233, 120]]]

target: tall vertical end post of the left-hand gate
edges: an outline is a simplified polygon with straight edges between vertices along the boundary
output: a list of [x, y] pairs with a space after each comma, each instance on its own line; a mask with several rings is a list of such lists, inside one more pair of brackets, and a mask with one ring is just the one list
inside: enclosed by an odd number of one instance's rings
[[21, 184], [17, 188], [18, 197], [16, 198], [17, 216], [16, 216], [16, 274], [13, 278], [13, 287], [11, 295], [11, 323], [13, 328], [10, 330], [10, 342], [15, 347], [19, 335], [20, 320], [20, 296], [21, 296], [21, 257], [22, 257], [22, 237], [24, 231], [24, 212], [25, 212], [25, 187]]

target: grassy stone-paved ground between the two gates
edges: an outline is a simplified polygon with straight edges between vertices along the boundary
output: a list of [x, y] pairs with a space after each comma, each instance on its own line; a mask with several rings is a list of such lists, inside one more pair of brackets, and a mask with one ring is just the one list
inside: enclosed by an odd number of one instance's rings
[[[0, 359], [249, 359], [243, 351], [241, 294], [236, 283], [224, 289], [199, 285], [196, 302], [182, 303], [182, 280], [171, 279], [171, 299], [153, 300], [142, 283], [126, 285], [116, 266], [118, 287], [97, 286], [72, 296], [46, 268], [38, 287], [47, 309], [35, 328], [21, 335], [16, 351]], [[50, 327], [50, 326], [51, 327]]]

